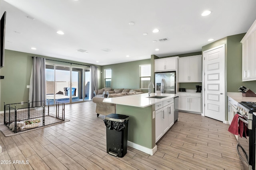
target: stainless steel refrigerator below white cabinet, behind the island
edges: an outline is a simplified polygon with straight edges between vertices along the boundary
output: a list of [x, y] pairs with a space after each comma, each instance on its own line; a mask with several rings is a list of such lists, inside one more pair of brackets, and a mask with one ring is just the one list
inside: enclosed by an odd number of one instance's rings
[[176, 94], [176, 72], [155, 73], [155, 93]]

